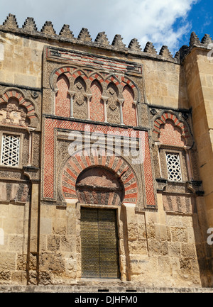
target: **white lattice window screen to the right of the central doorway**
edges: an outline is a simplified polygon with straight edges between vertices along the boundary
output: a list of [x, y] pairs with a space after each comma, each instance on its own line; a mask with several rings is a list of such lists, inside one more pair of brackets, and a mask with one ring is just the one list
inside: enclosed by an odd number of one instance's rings
[[173, 182], [181, 182], [180, 157], [175, 153], [166, 153], [168, 179]]

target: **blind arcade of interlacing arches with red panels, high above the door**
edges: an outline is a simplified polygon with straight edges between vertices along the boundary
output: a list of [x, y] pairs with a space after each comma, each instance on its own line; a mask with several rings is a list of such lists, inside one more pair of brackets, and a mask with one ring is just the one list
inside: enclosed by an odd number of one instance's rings
[[[130, 79], [95, 72], [88, 74], [83, 69], [72, 67], [58, 69], [52, 79], [50, 83], [55, 91], [55, 115], [138, 125], [137, 103], [140, 95]], [[62, 101], [58, 98], [58, 91], [60, 92], [62, 86], [64, 110], [60, 112], [58, 104], [62, 104]]]

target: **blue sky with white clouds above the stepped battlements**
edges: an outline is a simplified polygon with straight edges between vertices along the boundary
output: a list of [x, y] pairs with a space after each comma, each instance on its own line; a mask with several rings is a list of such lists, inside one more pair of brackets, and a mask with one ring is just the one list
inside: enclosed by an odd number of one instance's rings
[[57, 34], [68, 24], [75, 37], [82, 28], [92, 40], [105, 31], [109, 43], [121, 34], [127, 47], [137, 38], [142, 50], [151, 41], [158, 51], [167, 45], [173, 55], [189, 44], [192, 31], [200, 40], [205, 33], [213, 38], [213, 0], [0, 0], [0, 24], [9, 13], [19, 28], [33, 17], [38, 30], [52, 21]]

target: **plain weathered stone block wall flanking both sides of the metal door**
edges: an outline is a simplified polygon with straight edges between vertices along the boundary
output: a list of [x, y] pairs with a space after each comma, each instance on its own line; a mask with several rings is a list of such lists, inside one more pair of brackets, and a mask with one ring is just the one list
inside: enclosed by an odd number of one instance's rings
[[[160, 199], [158, 205], [160, 207]], [[40, 284], [75, 284], [81, 281], [78, 210], [75, 205], [41, 207]], [[159, 208], [158, 213], [136, 214], [131, 206], [121, 208], [121, 281], [155, 287], [203, 286], [200, 263], [197, 262], [199, 233], [197, 214], [165, 214], [163, 208]]]

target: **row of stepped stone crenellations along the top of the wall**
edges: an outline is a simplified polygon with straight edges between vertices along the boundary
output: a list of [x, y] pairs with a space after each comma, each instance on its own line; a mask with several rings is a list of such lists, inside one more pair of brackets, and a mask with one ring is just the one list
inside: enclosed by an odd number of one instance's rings
[[52, 36], [52, 39], [58, 40], [58, 41], [65, 41], [67, 40], [67, 43], [84, 43], [85, 45], [89, 44], [91, 46], [97, 47], [97, 44], [99, 45], [99, 48], [111, 48], [112, 50], [116, 50], [119, 52], [130, 52], [131, 55], [134, 53], [136, 55], [147, 56], [148, 57], [155, 57], [158, 60], [168, 60], [172, 62], [179, 63], [180, 61], [183, 61], [185, 59], [185, 56], [190, 52], [192, 48], [199, 47], [199, 48], [207, 48], [207, 45], [209, 43], [212, 43], [212, 38], [209, 36], [209, 34], [205, 34], [204, 38], [202, 38], [201, 42], [195, 32], [192, 32], [190, 35], [190, 44], [187, 46], [187, 48], [180, 48], [178, 50], [180, 52], [180, 56], [176, 55], [173, 57], [171, 55], [169, 50], [166, 50], [167, 46], [163, 46], [160, 50], [160, 57], [157, 55], [157, 52], [153, 46], [153, 43], [148, 42], [146, 43], [146, 46], [142, 52], [141, 46], [138, 43], [138, 40], [136, 38], [133, 38], [131, 42], [129, 43], [128, 48], [126, 48], [126, 45], [123, 43], [123, 38], [121, 38], [121, 35], [116, 34], [114, 36], [114, 40], [112, 41], [111, 45], [109, 43], [109, 40], [107, 39], [107, 35], [105, 32], [101, 32], [97, 34], [97, 37], [92, 41], [91, 35], [89, 34], [88, 29], [82, 28], [77, 38], [74, 37], [72, 31], [70, 30], [69, 25], [64, 25], [62, 29], [60, 30], [60, 33], [57, 34], [53, 28], [53, 24], [51, 21], [46, 21], [43, 28], [41, 28], [40, 31], [38, 31], [35, 21], [33, 18], [28, 17], [26, 18], [26, 21], [24, 22], [22, 28], [18, 28], [18, 23], [16, 21], [16, 16], [9, 13], [9, 16], [7, 16], [6, 20], [4, 21], [3, 25], [0, 26], [0, 30], [2, 31], [14, 31], [14, 33], [28, 33], [30, 35], [41, 35], [42, 38], [49, 39], [50, 35]]

